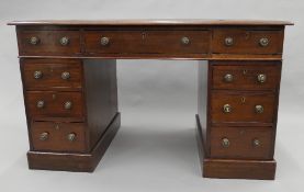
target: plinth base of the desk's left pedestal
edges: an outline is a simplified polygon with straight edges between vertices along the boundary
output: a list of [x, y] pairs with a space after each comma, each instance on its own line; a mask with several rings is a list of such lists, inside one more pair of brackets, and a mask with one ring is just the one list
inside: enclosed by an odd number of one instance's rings
[[104, 155], [116, 132], [121, 126], [121, 114], [117, 113], [108, 129], [102, 135], [90, 154], [66, 154], [29, 151], [27, 161], [30, 169], [60, 170], [92, 172]]

